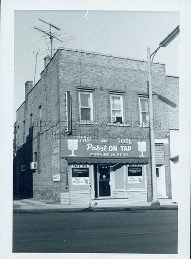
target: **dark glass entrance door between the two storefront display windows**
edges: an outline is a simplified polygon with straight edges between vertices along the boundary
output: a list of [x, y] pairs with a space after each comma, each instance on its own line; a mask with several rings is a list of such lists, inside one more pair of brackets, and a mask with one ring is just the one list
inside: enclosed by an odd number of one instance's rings
[[98, 165], [98, 188], [99, 197], [111, 196], [109, 165]]

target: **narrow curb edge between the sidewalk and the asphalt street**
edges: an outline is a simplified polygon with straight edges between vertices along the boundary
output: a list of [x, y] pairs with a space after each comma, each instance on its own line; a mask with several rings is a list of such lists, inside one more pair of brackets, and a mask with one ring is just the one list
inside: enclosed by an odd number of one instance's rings
[[144, 210], [178, 210], [178, 206], [146, 206], [146, 207], [121, 207], [121, 208], [116, 208], [116, 207], [110, 207], [110, 208], [74, 208], [74, 209], [31, 209], [31, 210], [26, 210], [26, 209], [13, 209], [13, 214], [18, 214], [18, 213], [69, 213], [69, 212], [126, 212], [126, 211], [144, 211]]

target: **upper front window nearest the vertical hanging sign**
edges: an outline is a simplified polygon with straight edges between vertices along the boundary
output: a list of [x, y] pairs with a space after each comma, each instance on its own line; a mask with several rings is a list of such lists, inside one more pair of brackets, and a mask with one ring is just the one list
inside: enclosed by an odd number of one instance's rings
[[93, 121], [92, 93], [79, 92], [79, 116], [80, 120]]

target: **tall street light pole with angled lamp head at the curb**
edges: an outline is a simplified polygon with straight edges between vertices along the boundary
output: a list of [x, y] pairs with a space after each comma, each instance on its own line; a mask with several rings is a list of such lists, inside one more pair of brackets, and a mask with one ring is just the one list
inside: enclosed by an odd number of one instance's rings
[[152, 206], [160, 206], [157, 194], [157, 182], [156, 182], [156, 159], [155, 159], [155, 141], [154, 141], [154, 125], [152, 125], [153, 116], [153, 89], [152, 89], [152, 75], [151, 67], [153, 59], [151, 57], [155, 56], [156, 52], [160, 47], [166, 47], [174, 38], [179, 34], [179, 25], [164, 39], [160, 42], [159, 47], [151, 54], [150, 48], [147, 49], [147, 59], [148, 59], [148, 72], [149, 72], [149, 116], [150, 116], [150, 139], [151, 139], [151, 168], [152, 168], [152, 186], [153, 186], [153, 199], [151, 202]]

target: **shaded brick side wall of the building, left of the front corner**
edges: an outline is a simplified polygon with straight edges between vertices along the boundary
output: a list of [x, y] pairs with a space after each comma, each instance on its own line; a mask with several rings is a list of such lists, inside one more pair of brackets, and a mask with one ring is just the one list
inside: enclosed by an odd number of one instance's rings
[[[37, 147], [39, 131], [39, 106], [41, 105], [42, 129], [39, 135], [40, 149]], [[33, 126], [31, 125], [31, 114]], [[24, 118], [24, 119], [23, 119]], [[25, 102], [17, 111], [17, 125], [25, 120], [25, 155], [26, 174], [32, 173], [33, 195], [40, 199], [59, 201], [60, 182], [53, 182], [53, 175], [60, 173], [59, 147], [54, 147], [54, 132], [59, 128], [59, 77], [58, 57], [41, 73], [41, 79], [26, 96]], [[20, 128], [20, 127], [19, 127]], [[19, 142], [22, 130], [19, 129]], [[31, 170], [30, 162], [35, 159], [35, 152], [40, 152], [40, 171]], [[19, 154], [17, 156], [20, 163]], [[28, 183], [29, 184], [29, 183]], [[31, 182], [30, 182], [31, 184]]]

